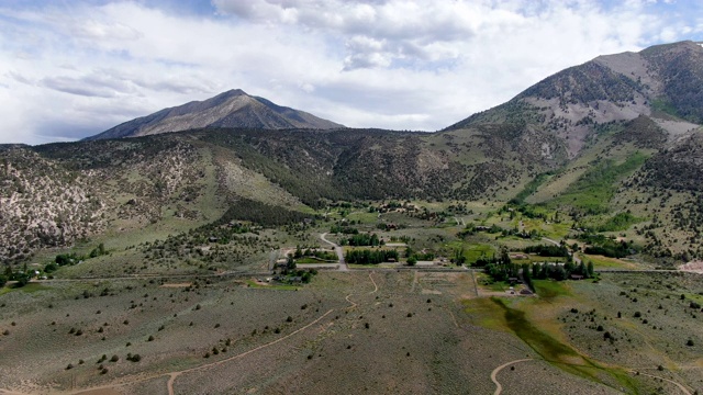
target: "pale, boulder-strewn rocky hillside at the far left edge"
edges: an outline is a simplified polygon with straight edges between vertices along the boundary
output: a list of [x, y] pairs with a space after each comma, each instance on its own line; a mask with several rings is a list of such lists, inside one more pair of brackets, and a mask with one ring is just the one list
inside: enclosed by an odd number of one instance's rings
[[105, 206], [89, 178], [24, 148], [0, 157], [0, 261], [104, 230]]

